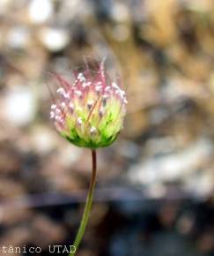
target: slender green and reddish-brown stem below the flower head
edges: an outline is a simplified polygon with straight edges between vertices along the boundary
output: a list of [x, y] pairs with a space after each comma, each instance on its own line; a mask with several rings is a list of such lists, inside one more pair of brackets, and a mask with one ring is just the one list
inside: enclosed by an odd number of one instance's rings
[[[90, 186], [89, 186], [87, 199], [85, 202], [84, 214], [83, 214], [80, 226], [77, 231], [77, 236], [76, 236], [76, 238], [74, 240], [74, 244], [73, 244], [76, 248], [76, 252], [77, 252], [78, 245], [80, 244], [80, 242], [84, 236], [85, 227], [87, 225], [88, 218], [89, 218], [89, 215], [90, 215], [90, 212], [92, 209], [93, 192], [94, 192], [94, 187], [96, 184], [96, 173], [97, 173], [97, 154], [96, 154], [96, 150], [92, 149], [92, 178], [91, 178], [91, 182], [90, 182]], [[76, 254], [76, 252], [70, 252], [70, 256], [74, 256]]]

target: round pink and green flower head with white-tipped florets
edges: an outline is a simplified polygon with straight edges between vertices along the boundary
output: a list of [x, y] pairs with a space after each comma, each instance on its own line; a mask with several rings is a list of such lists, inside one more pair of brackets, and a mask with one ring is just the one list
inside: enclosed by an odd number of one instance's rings
[[85, 68], [74, 83], [55, 74], [59, 82], [50, 118], [58, 132], [78, 147], [107, 147], [122, 130], [125, 92], [109, 81], [101, 62], [95, 72]]

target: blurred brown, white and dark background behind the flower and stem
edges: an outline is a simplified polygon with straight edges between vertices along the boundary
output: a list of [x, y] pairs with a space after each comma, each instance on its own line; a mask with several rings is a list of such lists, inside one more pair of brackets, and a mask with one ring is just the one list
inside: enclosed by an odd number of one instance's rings
[[91, 154], [55, 132], [47, 84], [83, 56], [107, 57], [129, 105], [77, 255], [213, 256], [212, 0], [0, 1], [0, 248], [75, 237]]

